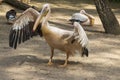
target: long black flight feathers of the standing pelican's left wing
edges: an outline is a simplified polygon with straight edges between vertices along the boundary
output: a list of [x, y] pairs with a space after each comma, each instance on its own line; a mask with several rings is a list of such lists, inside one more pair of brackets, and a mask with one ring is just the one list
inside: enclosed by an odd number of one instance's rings
[[[31, 37], [36, 35], [42, 35], [41, 30], [41, 24], [37, 28], [35, 32], [32, 32], [34, 22], [29, 22], [29, 24], [24, 25], [21, 29], [13, 29], [11, 28], [10, 34], [9, 34], [9, 46], [16, 49], [17, 46], [27, 40], [29, 40]], [[18, 27], [18, 26], [17, 26]]]

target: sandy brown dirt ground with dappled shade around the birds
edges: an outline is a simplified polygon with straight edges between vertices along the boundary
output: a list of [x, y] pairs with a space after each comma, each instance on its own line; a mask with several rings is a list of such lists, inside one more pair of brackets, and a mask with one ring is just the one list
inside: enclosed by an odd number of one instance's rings
[[[12, 7], [0, 5], [0, 80], [120, 80], [120, 35], [104, 33], [93, 2], [74, 1], [34, 0], [30, 4], [41, 8], [44, 3], [51, 3], [50, 20], [54, 22], [51, 25], [68, 30], [72, 27], [64, 24], [74, 12], [85, 9], [95, 16], [93, 27], [84, 26], [89, 38], [89, 57], [75, 54], [65, 68], [59, 67], [64, 63], [65, 54], [58, 50], [55, 51], [54, 65], [47, 65], [50, 48], [39, 36], [19, 45], [16, 50], [10, 48], [8, 40], [12, 25], [6, 24], [5, 12]], [[120, 4], [111, 5], [120, 22]]]

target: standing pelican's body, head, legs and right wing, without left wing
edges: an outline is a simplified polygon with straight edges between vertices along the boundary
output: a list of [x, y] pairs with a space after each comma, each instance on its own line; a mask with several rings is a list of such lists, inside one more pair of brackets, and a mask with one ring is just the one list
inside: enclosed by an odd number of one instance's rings
[[69, 56], [78, 51], [82, 56], [88, 56], [88, 38], [78, 22], [74, 22], [74, 30], [64, 30], [54, 26], [50, 26], [48, 19], [50, 17], [51, 8], [49, 4], [43, 5], [41, 14], [38, 16], [33, 31], [38, 28], [39, 23], [42, 21], [41, 30], [42, 34], [51, 48], [51, 56], [48, 61], [48, 65], [52, 65], [52, 58], [54, 55], [54, 49], [64, 51], [66, 53], [66, 59], [61, 67], [67, 66]]

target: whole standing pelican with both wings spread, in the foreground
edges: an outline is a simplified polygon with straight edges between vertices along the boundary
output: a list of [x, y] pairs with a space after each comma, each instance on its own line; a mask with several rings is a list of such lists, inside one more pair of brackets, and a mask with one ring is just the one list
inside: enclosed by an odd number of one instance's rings
[[50, 13], [49, 4], [43, 6], [41, 13], [32, 8], [23, 12], [11, 28], [9, 35], [10, 47], [16, 49], [17, 44], [29, 40], [33, 36], [33, 33], [38, 32], [44, 36], [51, 48], [48, 65], [53, 64], [54, 49], [66, 53], [66, 60], [62, 67], [67, 66], [69, 56], [76, 51], [79, 51], [82, 56], [88, 56], [88, 38], [82, 26], [78, 22], [74, 22], [73, 31], [50, 26], [48, 23]]

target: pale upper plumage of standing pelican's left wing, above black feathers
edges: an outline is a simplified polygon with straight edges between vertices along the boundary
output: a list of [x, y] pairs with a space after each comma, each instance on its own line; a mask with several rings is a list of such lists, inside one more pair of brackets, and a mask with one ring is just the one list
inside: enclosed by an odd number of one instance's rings
[[33, 8], [27, 9], [15, 21], [13, 24], [13, 30], [23, 28], [23, 26], [28, 25], [29, 22], [35, 22], [39, 14], [40, 13]]

